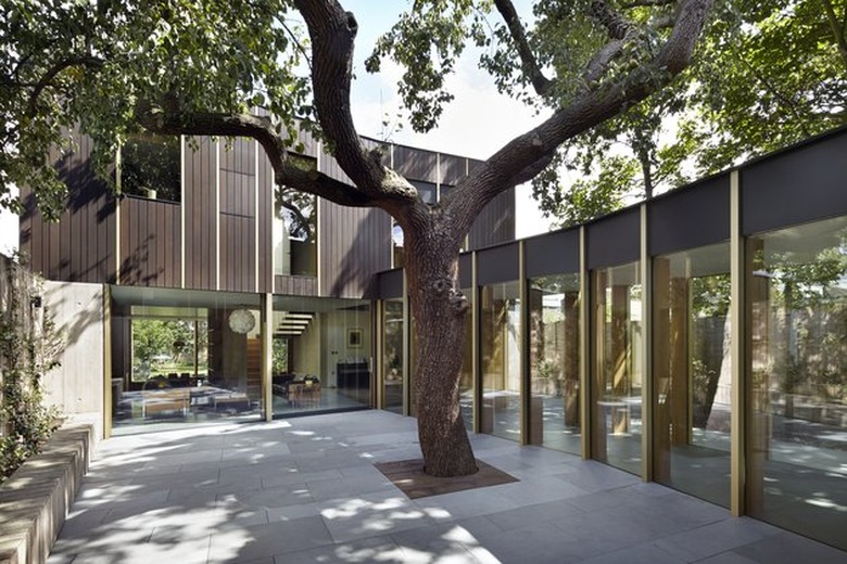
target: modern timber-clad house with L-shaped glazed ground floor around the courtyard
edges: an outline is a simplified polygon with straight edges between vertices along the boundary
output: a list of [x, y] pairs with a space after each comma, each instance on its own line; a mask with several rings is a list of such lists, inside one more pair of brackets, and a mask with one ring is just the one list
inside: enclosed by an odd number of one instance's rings
[[[304, 141], [307, 166], [344, 179]], [[62, 221], [22, 219], [22, 249], [71, 329], [53, 384], [66, 409], [99, 413], [106, 434], [326, 409], [414, 415], [388, 216], [275, 198], [249, 141], [182, 140], [172, 188], [123, 197], [92, 179], [80, 146], [62, 163]], [[468, 427], [847, 550], [844, 155], [847, 130], [521, 241], [514, 196], [492, 203], [460, 259]], [[399, 145], [384, 158], [433, 202], [475, 166]], [[122, 168], [142, 161], [125, 150]]]

